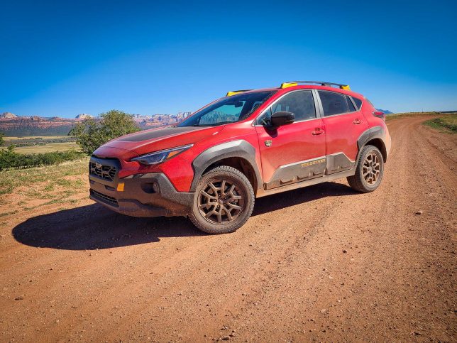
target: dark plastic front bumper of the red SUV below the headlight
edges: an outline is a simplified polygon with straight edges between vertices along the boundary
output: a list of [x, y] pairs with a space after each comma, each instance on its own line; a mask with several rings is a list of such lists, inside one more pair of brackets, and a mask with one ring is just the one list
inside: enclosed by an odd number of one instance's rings
[[[94, 160], [101, 160], [91, 158]], [[117, 160], [101, 160], [119, 171]], [[90, 173], [90, 198], [115, 212], [132, 217], [186, 216], [194, 201], [193, 192], [177, 192], [163, 173], [131, 175], [127, 178], [100, 177]], [[111, 180], [112, 179], [112, 180]], [[122, 184], [123, 185], [120, 185]]]

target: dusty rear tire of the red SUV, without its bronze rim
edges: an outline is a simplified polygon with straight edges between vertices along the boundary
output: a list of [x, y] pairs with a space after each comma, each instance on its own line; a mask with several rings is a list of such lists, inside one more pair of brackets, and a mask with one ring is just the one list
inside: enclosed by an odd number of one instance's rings
[[[368, 180], [365, 180], [366, 177], [364, 175], [364, 170], [365, 173], [367, 173], [367, 167], [364, 164], [370, 164], [369, 162], [367, 162], [367, 158], [369, 159], [370, 156], [376, 156], [380, 168], [378, 177], [375, 178], [375, 182], [371, 184], [368, 182], [369, 177]], [[384, 175], [384, 160], [382, 160], [382, 153], [375, 146], [364, 146], [362, 148], [362, 151], [360, 152], [360, 156], [358, 157], [356, 165], [356, 174], [353, 176], [349, 176], [347, 179], [349, 185], [353, 190], [368, 193], [373, 192], [373, 190], [378, 188], [382, 181], [382, 175]]]

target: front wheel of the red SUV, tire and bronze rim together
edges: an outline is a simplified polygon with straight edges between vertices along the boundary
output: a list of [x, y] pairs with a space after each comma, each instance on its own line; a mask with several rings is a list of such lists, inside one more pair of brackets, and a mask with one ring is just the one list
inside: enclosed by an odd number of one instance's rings
[[254, 191], [248, 178], [222, 165], [202, 176], [189, 218], [204, 232], [226, 234], [242, 227], [253, 208]]

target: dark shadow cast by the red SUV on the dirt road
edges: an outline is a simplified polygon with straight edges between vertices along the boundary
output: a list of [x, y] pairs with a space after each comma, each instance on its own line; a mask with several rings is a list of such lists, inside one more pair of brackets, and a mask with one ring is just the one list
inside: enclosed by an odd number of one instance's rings
[[[322, 197], [357, 194], [340, 183], [322, 183], [256, 200], [253, 216], [312, 202]], [[98, 204], [43, 214], [12, 230], [16, 241], [40, 248], [91, 250], [147, 244], [160, 237], [202, 236], [184, 217], [134, 218]]]

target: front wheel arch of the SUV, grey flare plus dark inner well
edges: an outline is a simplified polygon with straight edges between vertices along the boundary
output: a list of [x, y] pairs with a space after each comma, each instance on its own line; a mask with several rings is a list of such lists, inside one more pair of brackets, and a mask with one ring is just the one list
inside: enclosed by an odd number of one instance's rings
[[263, 186], [262, 177], [255, 162], [255, 148], [244, 140], [231, 141], [212, 146], [197, 156], [192, 162], [194, 179], [190, 191], [197, 189], [197, 183], [204, 173], [219, 166], [228, 165], [246, 175], [254, 192]]

